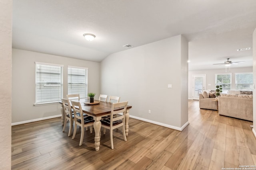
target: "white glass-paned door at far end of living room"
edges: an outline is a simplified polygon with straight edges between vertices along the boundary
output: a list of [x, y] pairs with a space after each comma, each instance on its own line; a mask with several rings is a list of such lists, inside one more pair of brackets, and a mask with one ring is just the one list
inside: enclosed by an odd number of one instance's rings
[[199, 94], [205, 90], [205, 74], [193, 75], [193, 100], [199, 100]]

